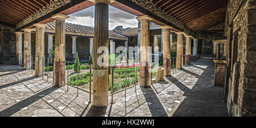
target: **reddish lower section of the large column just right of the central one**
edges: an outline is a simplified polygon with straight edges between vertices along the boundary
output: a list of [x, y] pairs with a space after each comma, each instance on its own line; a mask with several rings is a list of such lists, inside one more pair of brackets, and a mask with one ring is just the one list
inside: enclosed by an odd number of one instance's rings
[[140, 69], [139, 69], [139, 86], [141, 87], [150, 87], [151, 85], [151, 73], [150, 73], [150, 66], [148, 65], [149, 63], [140, 63]]

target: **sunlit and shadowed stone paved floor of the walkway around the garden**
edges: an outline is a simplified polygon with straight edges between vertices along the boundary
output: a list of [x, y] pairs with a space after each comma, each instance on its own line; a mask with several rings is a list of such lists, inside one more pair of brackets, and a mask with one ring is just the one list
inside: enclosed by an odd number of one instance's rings
[[[52, 87], [23, 71], [0, 65], [0, 116], [228, 116], [223, 88], [214, 87], [214, 63], [193, 63], [151, 88], [138, 85], [115, 94], [114, 104], [94, 108], [89, 94]], [[155, 89], [154, 89], [155, 88]], [[109, 103], [111, 96], [109, 96]], [[126, 107], [125, 107], [126, 106]]]

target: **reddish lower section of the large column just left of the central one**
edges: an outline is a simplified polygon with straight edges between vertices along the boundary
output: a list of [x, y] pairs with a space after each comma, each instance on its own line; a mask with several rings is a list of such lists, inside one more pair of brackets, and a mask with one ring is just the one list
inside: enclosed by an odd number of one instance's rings
[[53, 86], [65, 86], [65, 62], [55, 61]]

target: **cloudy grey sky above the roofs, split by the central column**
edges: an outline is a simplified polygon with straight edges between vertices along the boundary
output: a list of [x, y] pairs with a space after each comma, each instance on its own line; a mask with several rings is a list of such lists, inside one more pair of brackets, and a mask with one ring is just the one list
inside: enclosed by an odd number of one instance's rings
[[[68, 23], [94, 27], [94, 6], [69, 16], [70, 18], [67, 20]], [[112, 30], [118, 25], [122, 25], [123, 28], [135, 28], [138, 27], [138, 20], [135, 15], [109, 6], [109, 29]]]

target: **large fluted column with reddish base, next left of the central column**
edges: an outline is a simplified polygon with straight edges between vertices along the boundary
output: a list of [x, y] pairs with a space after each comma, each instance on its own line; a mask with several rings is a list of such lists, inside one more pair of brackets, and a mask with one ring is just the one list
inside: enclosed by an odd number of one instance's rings
[[65, 86], [65, 19], [69, 16], [55, 14], [52, 18], [56, 23], [53, 86], [62, 87]]

